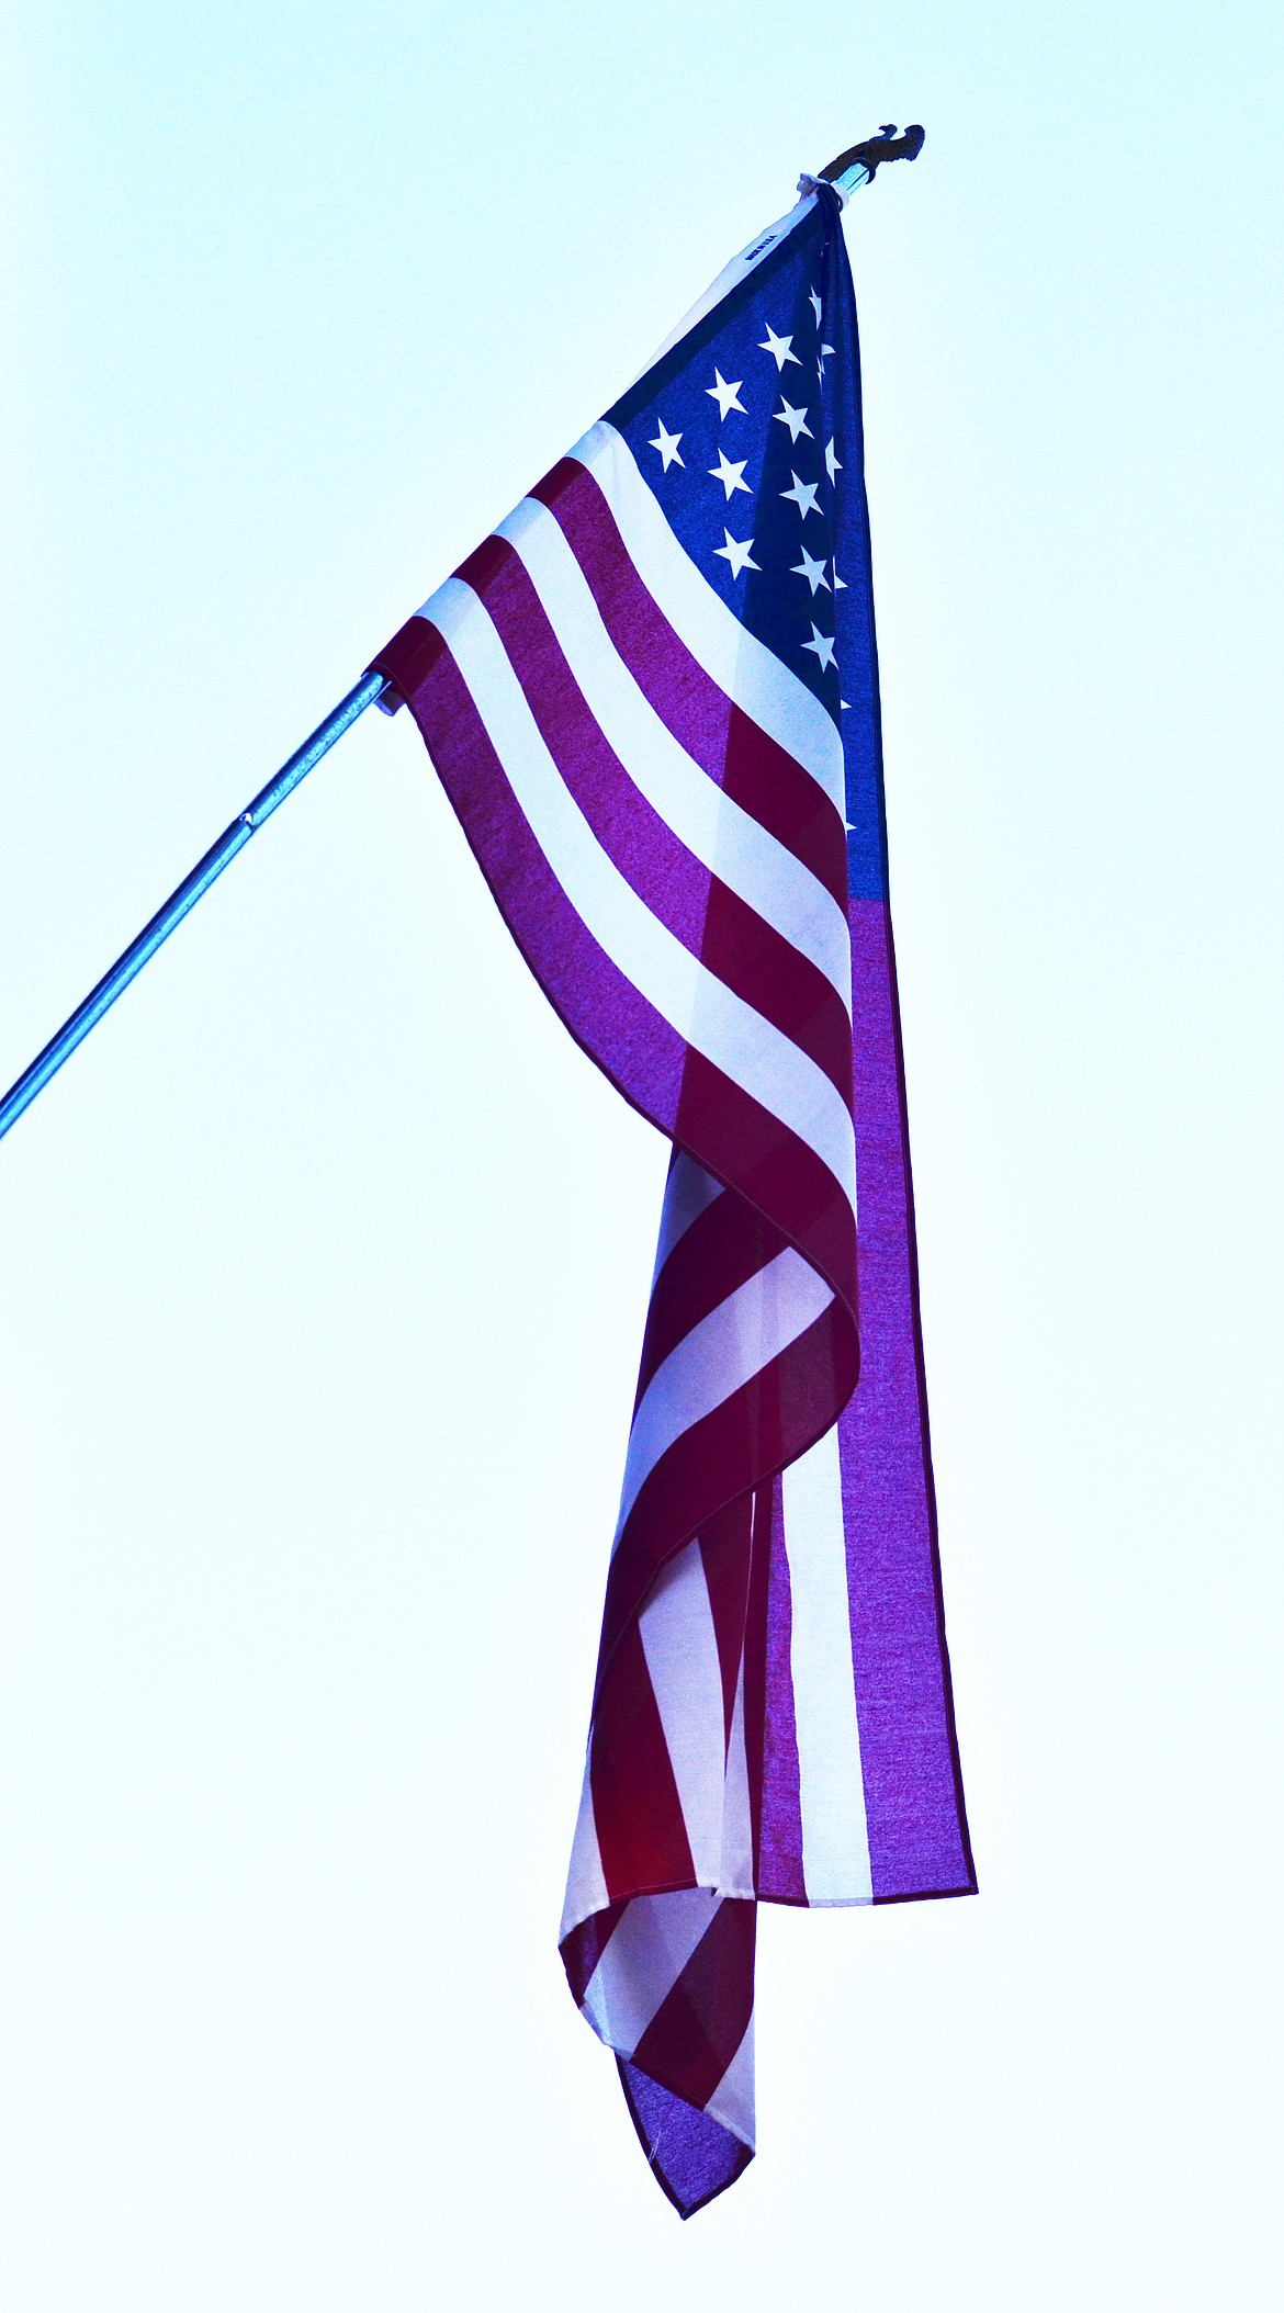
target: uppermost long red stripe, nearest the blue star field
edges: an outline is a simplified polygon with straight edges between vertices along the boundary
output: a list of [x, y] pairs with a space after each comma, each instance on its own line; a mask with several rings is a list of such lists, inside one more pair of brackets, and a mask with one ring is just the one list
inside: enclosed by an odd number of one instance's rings
[[530, 493], [555, 516], [615, 650], [673, 738], [847, 907], [847, 830], [819, 782], [706, 673], [645, 590], [597, 479], [560, 458]]

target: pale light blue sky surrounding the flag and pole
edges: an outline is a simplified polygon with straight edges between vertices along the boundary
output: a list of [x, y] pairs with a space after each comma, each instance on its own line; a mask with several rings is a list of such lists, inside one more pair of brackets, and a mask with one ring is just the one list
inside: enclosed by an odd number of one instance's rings
[[1256, 2308], [1268, 5], [21, 5], [0, 1076], [814, 169], [976, 1904], [770, 1915], [680, 2227], [553, 1950], [664, 1150], [370, 717], [0, 1150], [12, 2313]]

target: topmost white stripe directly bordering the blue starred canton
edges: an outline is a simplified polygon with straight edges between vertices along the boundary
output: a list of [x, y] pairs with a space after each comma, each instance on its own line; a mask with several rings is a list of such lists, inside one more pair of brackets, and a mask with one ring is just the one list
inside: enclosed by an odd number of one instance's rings
[[625, 437], [599, 419], [569, 456], [597, 476], [648, 594], [692, 657], [768, 738], [819, 779], [833, 807], [847, 819], [837, 724], [814, 692], [740, 625], [678, 546]]

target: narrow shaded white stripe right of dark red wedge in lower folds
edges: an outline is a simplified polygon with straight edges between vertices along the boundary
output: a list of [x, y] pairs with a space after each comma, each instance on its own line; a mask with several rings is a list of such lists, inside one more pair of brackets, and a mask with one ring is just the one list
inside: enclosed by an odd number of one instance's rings
[[687, 1543], [669, 1559], [643, 1608], [639, 1638], [678, 1786], [694, 1874], [701, 1887], [717, 1887], [726, 1737], [722, 1732], [722, 1665], [699, 1540]]

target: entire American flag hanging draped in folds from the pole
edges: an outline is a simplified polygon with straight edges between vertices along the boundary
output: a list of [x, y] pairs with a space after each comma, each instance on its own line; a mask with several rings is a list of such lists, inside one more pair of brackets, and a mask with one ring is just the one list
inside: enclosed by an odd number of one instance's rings
[[757, 1904], [976, 1885], [831, 187], [375, 666], [569, 1032], [673, 1143], [562, 1959], [689, 2216], [754, 2151]]

